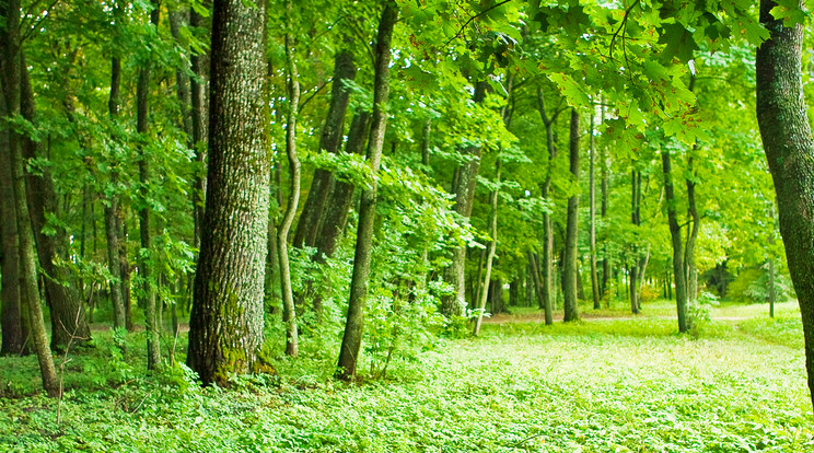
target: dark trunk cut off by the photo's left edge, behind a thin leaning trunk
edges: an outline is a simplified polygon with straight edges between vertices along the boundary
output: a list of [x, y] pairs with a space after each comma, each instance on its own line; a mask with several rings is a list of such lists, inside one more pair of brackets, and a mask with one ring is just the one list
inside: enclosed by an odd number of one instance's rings
[[[0, 51], [4, 50], [0, 44]], [[0, 72], [3, 65], [0, 62]], [[0, 80], [2, 88], [4, 80]], [[3, 93], [4, 91], [0, 91]], [[0, 117], [9, 114], [5, 107], [5, 95], [0, 95]], [[9, 131], [0, 131], [0, 218], [4, 221], [0, 228], [2, 240], [2, 255], [0, 255], [0, 292], [2, 292], [2, 312], [0, 312], [0, 328], [2, 329], [2, 346], [0, 356], [18, 356], [23, 352], [26, 337], [23, 335], [23, 318], [20, 304], [20, 240], [14, 208], [14, 182], [11, 174], [11, 148]]]

